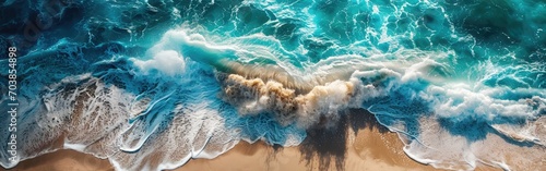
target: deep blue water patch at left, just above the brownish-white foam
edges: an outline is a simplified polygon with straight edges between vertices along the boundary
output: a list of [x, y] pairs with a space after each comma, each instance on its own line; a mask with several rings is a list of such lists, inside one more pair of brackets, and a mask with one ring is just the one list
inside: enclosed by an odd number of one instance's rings
[[[19, 85], [25, 87], [21, 89], [20, 95], [34, 97], [35, 93], [43, 89], [45, 85], [58, 83], [67, 76], [90, 72], [92, 63], [111, 57], [112, 50], [110, 52], [100, 50], [108, 47], [117, 47], [122, 51], [122, 47], [116, 44], [96, 47], [63, 44], [50, 50], [17, 58], [17, 78], [21, 78]], [[47, 76], [43, 73], [47, 73]]]

